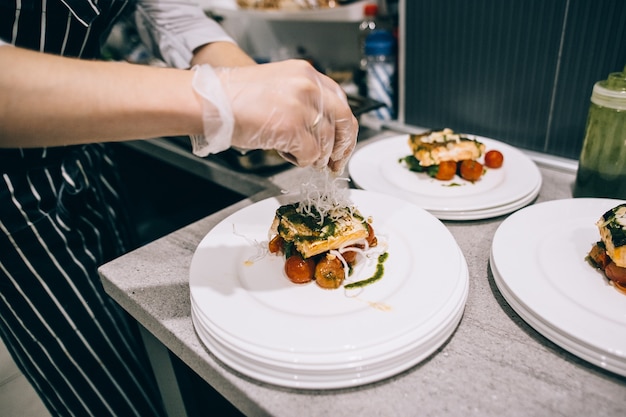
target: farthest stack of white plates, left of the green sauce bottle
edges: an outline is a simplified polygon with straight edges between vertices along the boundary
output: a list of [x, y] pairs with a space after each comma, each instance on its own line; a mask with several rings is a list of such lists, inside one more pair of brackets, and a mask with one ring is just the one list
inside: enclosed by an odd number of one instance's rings
[[486, 168], [476, 182], [456, 177], [439, 181], [410, 171], [400, 159], [411, 154], [408, 135], [382, 139], [358, 149], [349, 162], [354, 184], [364, 190], [403, 198], [442, 220], [477, 220], [502, 216], [530, 204], [541, 189], [541, 172], [520, 150], [493, 139], [472, 136], [486, 150], [504, 156], [501, 168]]

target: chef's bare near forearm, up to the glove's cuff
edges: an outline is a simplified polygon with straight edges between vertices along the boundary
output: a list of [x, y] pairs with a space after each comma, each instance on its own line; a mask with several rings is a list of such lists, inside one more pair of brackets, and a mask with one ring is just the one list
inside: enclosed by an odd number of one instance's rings
[[0, 147], [202, 134], [192, 71], [0, 46]]

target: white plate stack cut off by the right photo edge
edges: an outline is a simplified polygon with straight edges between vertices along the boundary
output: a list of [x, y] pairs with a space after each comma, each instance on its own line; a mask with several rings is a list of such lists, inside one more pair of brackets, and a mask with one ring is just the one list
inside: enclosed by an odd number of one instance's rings
[[509, 216], [493, 239], [491, 269], [507, 302], [565, 350], [626, 376], [626, 295], [585, 257], [610, 199], [556, 200]]

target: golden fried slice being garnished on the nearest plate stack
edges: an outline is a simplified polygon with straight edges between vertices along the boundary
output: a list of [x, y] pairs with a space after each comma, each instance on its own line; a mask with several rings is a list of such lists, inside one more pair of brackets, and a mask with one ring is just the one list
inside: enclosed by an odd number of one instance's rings
[[354, 208], [336, 208], [324, 218], [315, 212], [300, 213], [297, 208], [297, 204], [279, 207], [270, 232], [292, 242], [305, 259], [361, 243], [369, 234], [367, 221]]

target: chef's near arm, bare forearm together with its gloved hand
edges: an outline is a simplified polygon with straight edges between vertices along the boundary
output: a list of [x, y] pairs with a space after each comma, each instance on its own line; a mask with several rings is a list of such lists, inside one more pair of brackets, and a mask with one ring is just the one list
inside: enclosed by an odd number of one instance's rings
[[192, 135], [194, 152], [276, 149], [341, 172], [358, 123], [345, 93], [305, 61], [194, 71], [0, 46], [0, 147]]

